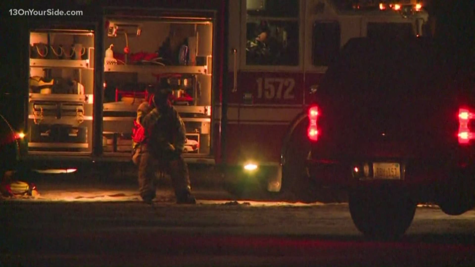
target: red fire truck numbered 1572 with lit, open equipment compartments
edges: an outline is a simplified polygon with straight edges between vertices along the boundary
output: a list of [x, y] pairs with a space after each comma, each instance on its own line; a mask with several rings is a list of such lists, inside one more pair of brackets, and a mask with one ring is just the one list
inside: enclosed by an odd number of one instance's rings
[[[66, 10], [81, 15], [51, 15]], [[300, 129], [348, 40], [430, 33], [415, 0], [77, 0], [10, 13], [21, 30], [1, 101], [22, 166], [131, 162], [136, 109], [165, 79], [186, 161], [218, 166], [235, 193], [311, 190]]]

